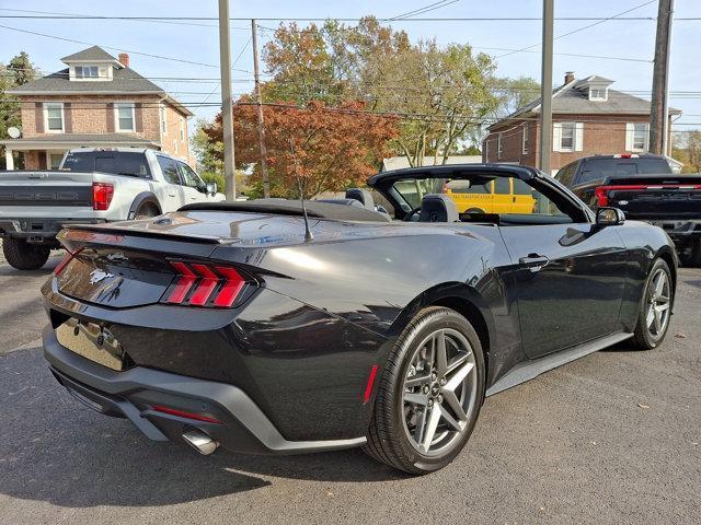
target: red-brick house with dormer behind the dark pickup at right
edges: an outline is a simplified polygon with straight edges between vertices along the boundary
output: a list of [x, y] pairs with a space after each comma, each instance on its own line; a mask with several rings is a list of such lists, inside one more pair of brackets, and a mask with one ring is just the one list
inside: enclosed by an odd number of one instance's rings
[[[577, 80], [567, 72], [564, 84], [553, 91], [553, 173], [586, 155], [647, 151], [650, 101], [612, 90], [612, 83], [596, 75]], [[484, 162], [539, 167], [540, 102], [538, 98], [487, 128], [482, 143]], [[669, 108], [670, 120], [680, 114]]]

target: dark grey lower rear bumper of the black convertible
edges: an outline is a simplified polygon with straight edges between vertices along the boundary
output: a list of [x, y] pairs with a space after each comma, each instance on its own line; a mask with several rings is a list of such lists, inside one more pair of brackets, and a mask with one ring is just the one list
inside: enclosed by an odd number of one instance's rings
[[[50, 370], [71, 394], [108, 416], [129, 419], [147, 438], [180, 441], [193, 428], [225, 448], [245, 453], [296, 454], [350, 448], [365, 436], [346, 440], [288, 441], [240, 388], [145, 366], [115, 372], [62, 347], [51, 329], [44, 329], [44, 354]], [[197, 413], [200, 421], [154, 410], [153, 407]]]

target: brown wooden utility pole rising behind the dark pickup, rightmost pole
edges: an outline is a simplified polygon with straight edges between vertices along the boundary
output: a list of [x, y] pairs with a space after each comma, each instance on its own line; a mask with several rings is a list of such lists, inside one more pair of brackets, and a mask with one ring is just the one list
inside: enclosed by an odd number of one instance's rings
[[653, 100], [650, 106], [650, 152], [666, 155], [669, 138], [669, 40], [674, 0], [659, 0], [653, 66]]

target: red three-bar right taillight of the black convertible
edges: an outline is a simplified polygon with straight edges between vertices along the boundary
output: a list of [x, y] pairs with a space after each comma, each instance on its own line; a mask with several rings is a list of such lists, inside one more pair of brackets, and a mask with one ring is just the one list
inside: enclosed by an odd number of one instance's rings
[[231, 267], [171, 260], [177, 279], [165, 293], [165, 302], [188, 306], [233, 305], [245, 285], [245, 279]]

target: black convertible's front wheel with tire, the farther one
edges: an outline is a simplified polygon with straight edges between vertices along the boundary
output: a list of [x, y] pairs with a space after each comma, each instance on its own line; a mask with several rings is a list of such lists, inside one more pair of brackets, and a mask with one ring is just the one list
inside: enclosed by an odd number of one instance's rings
[[652, 350], [662, 343], [669, 329], [674, 285], [669, 266], [656, 259], [647, 275], [645, 290], [641, 299], [633, 346], [641, 350]]

